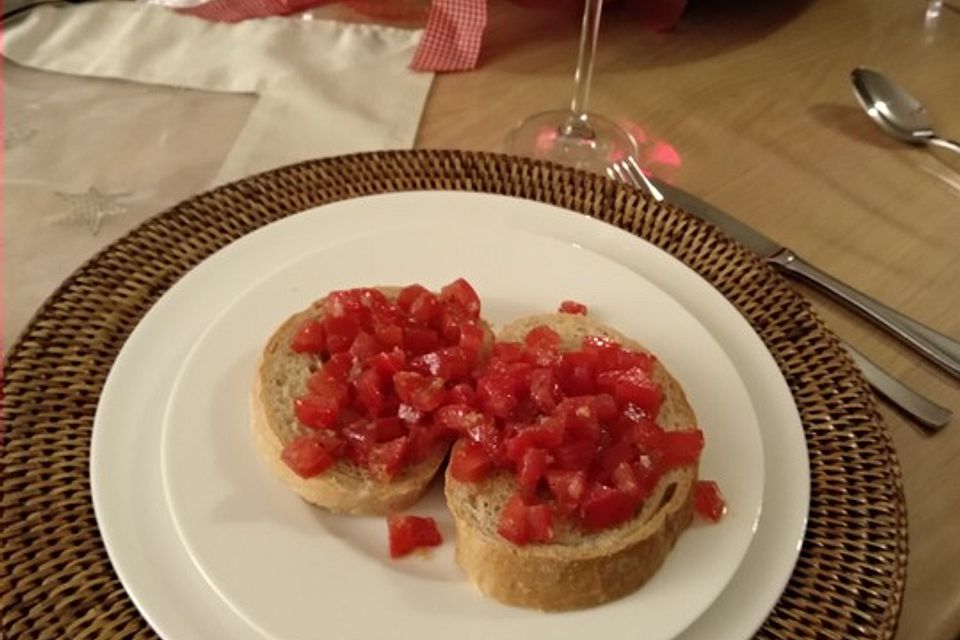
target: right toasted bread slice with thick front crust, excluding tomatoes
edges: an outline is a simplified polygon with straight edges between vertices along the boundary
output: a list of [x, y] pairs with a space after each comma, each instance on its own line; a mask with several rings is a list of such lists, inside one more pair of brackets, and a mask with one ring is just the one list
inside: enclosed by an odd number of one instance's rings
[[[644, 350], [590, 318], [565, 314], [517, 320], [498, 339], [522, 341], [538, 325], [557, 331], [566, 350], [578, 348], [587, 335]], [[659, 361], [654, 379], [664, 397], [658, 424], [666, 430], [695, 426], [683, 390]], [[622, 525], [585, 533], [560, 523], [550, 543], [521, 547], [497, 533], [500, 513], [515, 493], [513, 474], [499, 472], [479, 483], [465, 483], [448, 468], [445, 493], [456, 523], [457, 562], [482, 593], [511, 605], [559, 611], [615, 600], [638, 589], [663, 564], [692, 519], [696, 477], [692, 467], [668, 472], [637, 515]]]

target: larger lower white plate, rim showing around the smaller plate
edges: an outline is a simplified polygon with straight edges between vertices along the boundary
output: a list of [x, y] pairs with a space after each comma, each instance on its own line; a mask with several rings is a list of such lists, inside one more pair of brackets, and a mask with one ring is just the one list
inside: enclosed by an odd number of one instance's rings
[[[358, 198], [269, 225], [191, 271], [133, 332], [101, 397], [91, 447], [91, 482], [107, 551], [145, 618], [168, 639], [262, 637], [199, 571], [189, 570], [194, 565], [179, 543], [164, 500], [161, 415], [195, 341], [251, 283], [292, 258], [364, 237], [371, 229], [402, 230], [423, 213], [579, 243], [642, 274], [686, 307], [721, 345], [746, 385], [760, 424], [764, 507], [733, 580], [681, 637], [749, 637], [789, 578], [809, 499], [802, 426], [783, 378], [759, 338], [706, 282], [630, 234], [531, 201], [448, 192]], [[257, 553], [259, 549], [247, 550], [247, 555]]]

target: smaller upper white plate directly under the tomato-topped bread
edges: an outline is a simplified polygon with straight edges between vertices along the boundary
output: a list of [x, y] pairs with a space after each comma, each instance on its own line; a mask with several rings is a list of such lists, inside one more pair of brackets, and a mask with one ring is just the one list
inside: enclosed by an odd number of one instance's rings
[[[366, 217], [327, 215], [357, 223]], [[406, 218], [403, 230], [327, 247], [268, 275], [187, 357], [167, 406], [161, 451], [174, 522], [191, 557], [241, 617], [278, 640], [311, 636], [318, 619], [331, 637], [389, 636], [422, 624], [425, 609], [430, 637], [572, 640], [627, 627], [647, 640], [675, 637], [733, 576], [760, 513], [760, 431], [737, 370], [686, 309], [612, 260], [467, 216], [421, 211]], [[334, 289], [419, 281], [436, 290], [461, 275], [495, 326], [576, 299], [657, 353], [683, 384], [707, 437], [702, 476], [720, 483], [729, 512], [722, 523], [683, 535], [632, 596], [563, 615], [504, 607], [470, 589], [457, 569], [453, 522], [439, 489], [411, 511], [436, 516], [447, 544], [428, 559], [395, 561], [383, 518], [320, 513], [264, 469], [247, 398], [259, 353], [285, 318]], [[367, 615], [373, 603], [378, 615]]]

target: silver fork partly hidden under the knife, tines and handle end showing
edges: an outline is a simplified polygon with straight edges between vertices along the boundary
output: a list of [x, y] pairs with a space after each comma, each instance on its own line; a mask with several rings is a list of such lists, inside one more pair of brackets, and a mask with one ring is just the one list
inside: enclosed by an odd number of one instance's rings
[[[632, 156], [620, 160], [607, 167], [607, 175], [613, 179], [636, 187], [649, 193], [654, 200], [662, 202], [663, 194], [656, 185], [643, 173], [640, 164]], [[696, 211], [688, 211], [697, 215]], [[883, 398], [894, 407], [911, 417], [920, 425], [939, 431], [950, 423], [953, 412], [926, 396], [906, 386], [891, 374], [881, 369], [876, 363], [857, 351], [849, 344], [844, 347], [851, 359], [863, 373], [864, 379]]]

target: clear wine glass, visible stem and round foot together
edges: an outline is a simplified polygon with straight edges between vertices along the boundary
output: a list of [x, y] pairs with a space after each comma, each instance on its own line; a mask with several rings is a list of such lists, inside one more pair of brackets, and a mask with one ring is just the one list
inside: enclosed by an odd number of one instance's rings
[[609, 118], [587, 111], [603, 0], [585, 0], [570, 109], [536, 113], [507, 134], [507, 153], [605, 174], [617, 160], [636, 157], [637, 143]]

